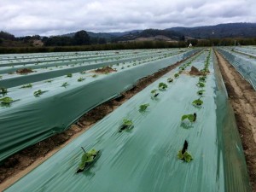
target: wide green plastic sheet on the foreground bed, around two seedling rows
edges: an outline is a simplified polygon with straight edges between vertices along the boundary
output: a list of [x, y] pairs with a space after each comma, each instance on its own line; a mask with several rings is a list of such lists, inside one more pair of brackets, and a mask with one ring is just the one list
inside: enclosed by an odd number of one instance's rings
[[[206, 56], [200, 55], [192, 65], [202, 68]], [[202, 108], [191, 105], [198, 98], [198, 77], [181, 74], [166, 83], [177, 70], [133, 96], [6, 191], [251, 191], [218, 68], [214, 70], [211, 60]], [[168, 88], [153, 100], [150, 92], [160, 82]], [[149, 106], [141, 113], [138, 109], [144, 103]], [[183, 126], [182, 115], [195, 112], [195, 123]], [[120, 133], [124, 118], [134, 127]], [[177, 159], [185, 139], [193, 156], [189, 163]], [[100, 149], [102, 154], [89, 170], [76, 173], [83, 154], [80, 147]]]

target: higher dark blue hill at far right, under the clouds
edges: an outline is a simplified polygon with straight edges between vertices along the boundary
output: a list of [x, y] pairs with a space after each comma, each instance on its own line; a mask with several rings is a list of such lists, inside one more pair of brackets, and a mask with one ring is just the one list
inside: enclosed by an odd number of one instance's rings
[[256, 38], [256, 23], [227, 23], [217, 26], [172, 27], [166, 29], [191, 38]]

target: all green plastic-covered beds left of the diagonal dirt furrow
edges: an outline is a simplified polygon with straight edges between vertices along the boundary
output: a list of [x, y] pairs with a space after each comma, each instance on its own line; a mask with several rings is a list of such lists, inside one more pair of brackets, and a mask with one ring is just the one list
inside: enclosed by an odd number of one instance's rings
[[[131, 88], [138, 79], [181, 61], [196, 51], [199, 49], [107, 51], [80, 54], [82, 56], [57, 54], [48, 59], [45, 59], [45, 55], [25, 55], [23, 59], [26, 61], [37, 62], [33, 67], [37, 67], [40, 61], [43, 69], [36, 68], [34, 71], [30, 68], [32, 64], [25, 64], [20, 69], [20, 65], [16, 65], [9, 74], [5, 73], [7, 69], [3, 67], [0, 82], [0, 160], [66, 130], [81, 115], [102, 102], [119, 96], [120, 92]], [[68, 57], [72, 61], [76, 60], [73, 57], [85, 57], [84, 55], [90, 56], [76, 65], [69, 66], [64, 59]], [[91, 57], [94, 58], [93, 64], [90, 64]], [[57, 61], [57, 58], [63, 62], [60, 61], [61, 64], [51, 68], [52, 70], [46, 70], [45, 66], [51, 66], [51, 62]], [[24, 62], [14, 55], [3, 55], [2, 61], [14, 61], [15, 64]], [[2, 65], [6, 66], [4, 62]], [[88, 66], [94, 69], [86, 70]], [[30, 71], [32, 72], [29, 73]], [[9, 127], [15, 128], [10, 130]]]

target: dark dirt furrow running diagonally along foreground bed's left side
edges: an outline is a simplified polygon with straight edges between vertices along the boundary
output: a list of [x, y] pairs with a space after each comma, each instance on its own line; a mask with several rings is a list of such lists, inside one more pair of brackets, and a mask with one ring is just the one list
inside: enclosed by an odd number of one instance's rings
[[[183, 61], [186, 61], [189, 58]], [[127, 90], [118, 98], [105, 102], [90, 110], [90, 112], [85, 113], [84, 116], [82, 116], [79, 121], [75, 125], [72, 125], [67, 131], [49, 137], [42, 142], [25, 148], [17, 154], [10, 156], [5, 160], [3, 165], [0, 165], [0, 191], [8, 188], [20, 177], [25, 176], [26, 173], [31, 172], [33, 168], [43, 163], [61, 148], [65, 147], [67, 143], [70, 143], [75, 137], [79, 137], [84, 131], [96, 124], [97, 121], [104, 118], [108, 113], [113, 112], [115, 108], [118, 108], [122, 103], [129, 100], [131, 96], [136, 95], [139, 91], [147, 87], [148, 84], [153, 83], [164, 74], [181, 65], [183, 61], [179, 61], [172, 66], [163, 68], [153, 75], [140, 79], [131, 90]]]

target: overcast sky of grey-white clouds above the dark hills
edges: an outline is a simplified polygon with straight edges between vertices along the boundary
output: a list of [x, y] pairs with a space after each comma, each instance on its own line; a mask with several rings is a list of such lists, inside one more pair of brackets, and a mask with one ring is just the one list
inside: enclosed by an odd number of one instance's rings
[[0, 31], [15, 36], [230, 22], [256, 22], [256, 0], [0, 0]]

